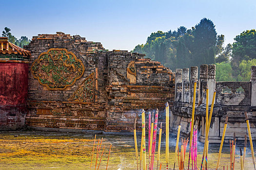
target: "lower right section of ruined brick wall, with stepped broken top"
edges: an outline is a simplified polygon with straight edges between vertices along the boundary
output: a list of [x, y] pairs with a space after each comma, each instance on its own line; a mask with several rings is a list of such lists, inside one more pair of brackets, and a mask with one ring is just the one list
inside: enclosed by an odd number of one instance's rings
[[[133, 121], [141, 126], [141, 109], [156, 112], [158, 122], [165, 122], [165, 102], [174, 101], [174, 73], [157, 61], [144, 59], [143, 54], [127, 51], [109, 52], [109, 109], [106, 131], [132, 131]], [[131, 83], [129, 64], [134, 62], [135, 81]], [[165, 127], [165, 124], [164, 124]]]

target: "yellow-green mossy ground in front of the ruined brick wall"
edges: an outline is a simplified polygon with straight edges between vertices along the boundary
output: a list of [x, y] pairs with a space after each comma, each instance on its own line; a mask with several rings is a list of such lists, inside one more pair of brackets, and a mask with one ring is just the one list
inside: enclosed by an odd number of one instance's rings
[[[108, 170], [137, 170], [133, 136], [97, 136], [103, 137], [101, 151], [105, 146], [99, 170], [105, 170], [110, 144], [112, 144]], [[140, 136], [137, 137], [138, 139]], [[94, 135], [41, 132], [2, 132], [0, 133], [0, 170], [89, 170]], [[164, 140], [161, 143], [160, 162], [165, 164]], [[97, 142], [98, 143], [98, 142]], [[138, 147], [140, 142], [138, 142]], [[173, 169], [175, 139], [170, 141], [169, 167]], [[197, 166], [201, 162], [202, 146], [198, 147]], [[223, 148], [220, 164], [225, 169], [230, 165], [229, 147]], [[240, 169], [240, 156], [236, 148], [235, 169]], [[188, 151], [188, 149], [187, 149]], [[209, 149], [209, 169], [216, 168], [218, 147]], [[94, 152], [93, 170], [95, 170], [96, 152]], [[156, 153], [157, 154], [157, 153]], [[188, 153], [186, 153], [186, 157]], [[157, 155], [155, 155], [157, 156]], [[147, 157], [148, 158], [148, 157]], [[156, 160], [156, 157], [155, 157]], [[99, 161], [99, 159], [98, 159]], [[187, 162], [187, 161], [186, 161]], [[156, 168], [155, 163], [155, 168]], [[187, 163], [185, 164], [185, 168]], [[178, 168], [178, 167], [177, 167]], [[98, 169], [98, 167], [97, 167]], [[170, 168], [169, 168], [170, 169]], [[159, 170], [159, 167], [158, 167]], [[162, 168], [163, 170], [163, 168]], [[226, 169], [227, 170], [227, 169]], [[245, 170], [253, 170], [251, 153], [247, 150]]]

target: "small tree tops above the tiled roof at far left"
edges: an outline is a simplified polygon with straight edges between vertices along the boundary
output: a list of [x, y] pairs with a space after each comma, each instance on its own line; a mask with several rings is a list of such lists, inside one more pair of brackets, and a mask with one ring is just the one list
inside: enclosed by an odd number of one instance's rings
[[11, 34], [11, 29], [5, 27], [2, 32], [2, 37], [8, 37], [8, 41], [23, 48], [24, 45], [28, 45], [30, 40], [26, 36], [21, 36], [20, 39], [17, 39], [14, 35]]

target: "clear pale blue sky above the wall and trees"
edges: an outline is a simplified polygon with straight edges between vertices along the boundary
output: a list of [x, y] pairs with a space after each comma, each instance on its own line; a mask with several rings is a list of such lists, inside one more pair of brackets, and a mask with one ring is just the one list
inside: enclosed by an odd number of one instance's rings
[[256, 29], [256, 0], [1, 0], [0, 31], [20, 38], [66, 34], [101, 42], [108, 50], [133, 50], [152, 32], [191, 28], [203, 17], [225, 44]]

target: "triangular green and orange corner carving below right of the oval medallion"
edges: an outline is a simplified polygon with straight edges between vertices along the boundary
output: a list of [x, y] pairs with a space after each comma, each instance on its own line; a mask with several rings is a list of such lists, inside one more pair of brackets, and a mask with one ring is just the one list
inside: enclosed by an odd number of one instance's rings
[[79, 85], [79, 88], [69, 97], [68, 101], [74, 102], [94, 102], [94, 89], [95, 89], [94, 73], [90, 74]]

